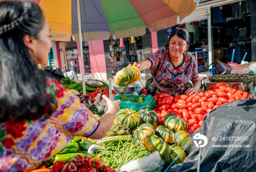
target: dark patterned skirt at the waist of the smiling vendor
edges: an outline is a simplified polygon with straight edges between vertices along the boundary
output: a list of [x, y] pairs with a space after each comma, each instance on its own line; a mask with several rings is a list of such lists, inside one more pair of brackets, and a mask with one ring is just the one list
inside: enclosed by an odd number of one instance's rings
[[157, 80], [154, 79], [154, 77], [148, 79], [146, 81], [146, 86], [145, 89], [148, 94], [154, 96], [156, 94], [161, 94], [161, 93], [168, 93], [172, 96], [176, 96], [179, 94], [186, 94], [187, 89], [192, 88], [193, 85], [190, 82], [187, 82], [180, 88], [166, 88], [163, 85], [159, 84]]

